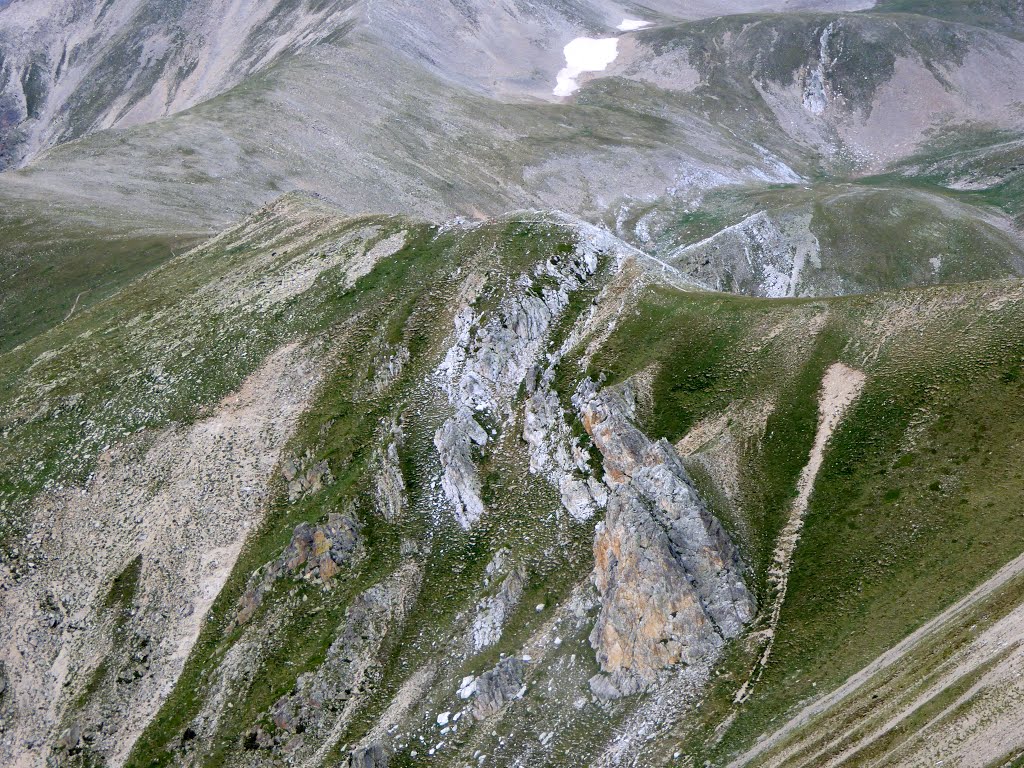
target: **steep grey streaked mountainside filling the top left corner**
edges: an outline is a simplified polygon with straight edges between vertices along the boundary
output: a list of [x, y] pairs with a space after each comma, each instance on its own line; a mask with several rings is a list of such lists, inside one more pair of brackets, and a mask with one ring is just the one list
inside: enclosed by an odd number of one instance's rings
[[352, 0], [15, 0], [0, 12], [0, 170], [205, 101], [342, 33]]

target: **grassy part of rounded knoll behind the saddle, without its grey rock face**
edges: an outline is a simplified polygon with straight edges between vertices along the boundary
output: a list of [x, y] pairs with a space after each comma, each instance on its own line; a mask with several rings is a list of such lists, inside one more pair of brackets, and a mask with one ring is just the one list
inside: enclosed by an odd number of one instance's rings
[[[805, 263], [800, 295], [873, 293], [940, 283], [1016, 276], [1024, 245], [1011, 211], [977, 194], [896, 174], [872, 180], [740, 187], [709, 193], [699, 210], [664, 202], [636, 214], [660, 222], [656, 250], [697, 243], [765, 212], [790, 242], [812, 242], [820, 263]], [[637, 219], [628, 225], [636, 227]], [[731, 258], [746, 255], [734, 249]], [[740, 264], [741, 266], [741, 264]]]

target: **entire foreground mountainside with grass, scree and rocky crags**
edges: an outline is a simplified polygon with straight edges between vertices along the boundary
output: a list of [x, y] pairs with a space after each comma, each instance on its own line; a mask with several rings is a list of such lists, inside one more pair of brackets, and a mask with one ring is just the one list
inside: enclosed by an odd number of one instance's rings
[[289, 197], [5, 355], [5, 761], [727, 755], [1024, 548], [1022, 300]]

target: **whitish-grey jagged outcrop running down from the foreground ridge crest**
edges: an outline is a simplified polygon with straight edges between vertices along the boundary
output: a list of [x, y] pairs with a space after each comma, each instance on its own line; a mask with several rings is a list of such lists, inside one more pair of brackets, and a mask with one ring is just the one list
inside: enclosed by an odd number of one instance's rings
[[[497, 308], [477, 314], [468, 302], [455, 318], [455, 343], [435, 379], [455, 409], [434, 435], [441, 487], [465, 528], [483, 515], [476, 458], [512, 419], [512, 403], [545, 351], [554, 322], [573, 291], [597, 270], [597, 249], [581, 239], [522, 274]], [[482, 285], [477, 285], [477, 297]], [[474, 297], [474, 298], [477, 298]]]

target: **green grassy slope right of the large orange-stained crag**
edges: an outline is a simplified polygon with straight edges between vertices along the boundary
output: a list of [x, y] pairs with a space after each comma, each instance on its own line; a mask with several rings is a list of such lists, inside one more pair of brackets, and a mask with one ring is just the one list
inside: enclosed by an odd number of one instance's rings
[[657, 366], [647, 427], [669, 439], [729, 403], [777, 398], [763, 438], [746, 443], [731, 510], [752, 531], [762, 587], [824, 369], [843, 360], [869, 377], [819, 475], [772, 663], [715, 743], [750, 662], [736, 649], [706, 726], [684, 741], [697, 764], [750, 743], [1024, 550], [1024, 476], [1012, 469], [1024, 439], [1020, 299], [1015, 283], [827, 302], [659, 292], [595, 361], [612, 379]]

